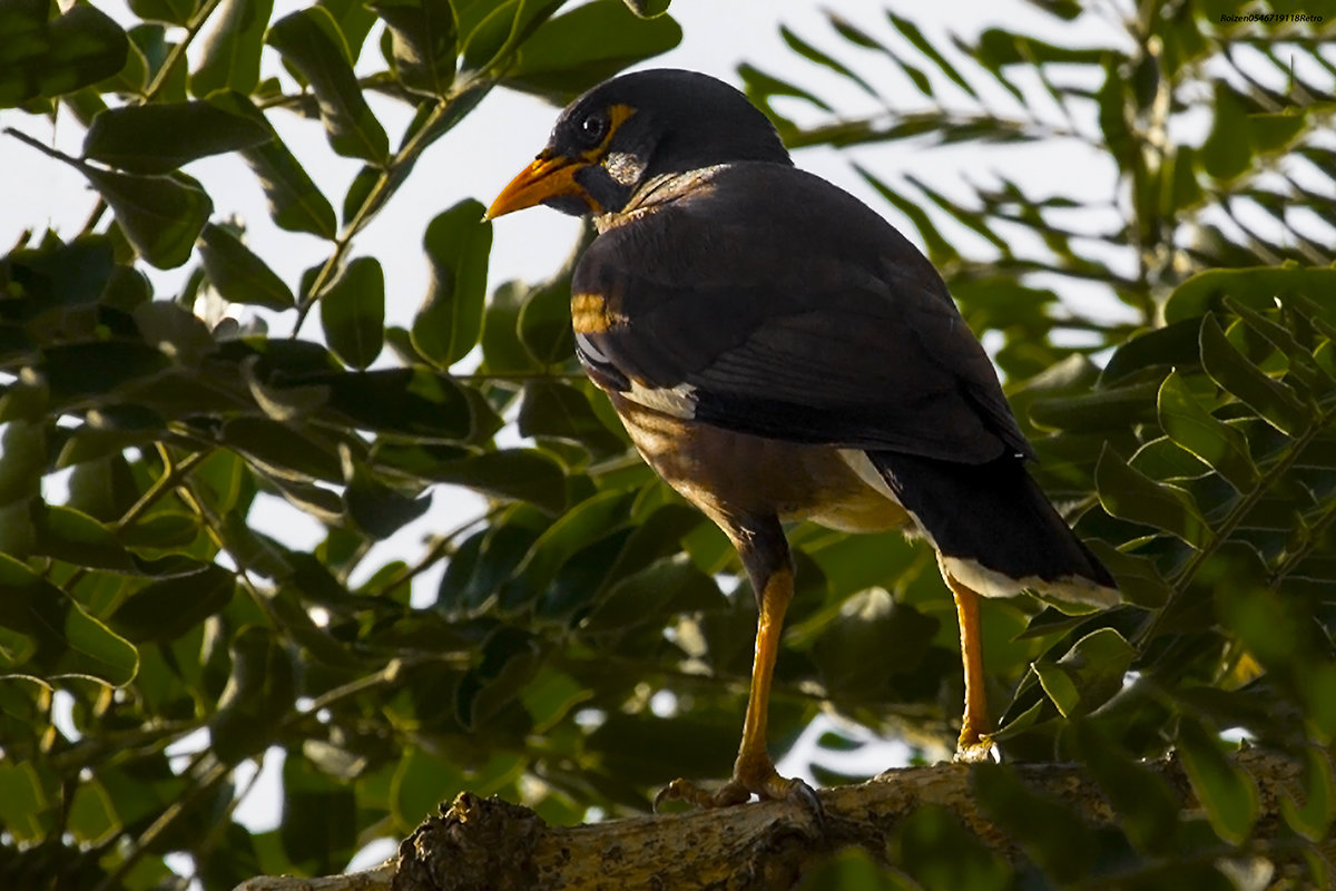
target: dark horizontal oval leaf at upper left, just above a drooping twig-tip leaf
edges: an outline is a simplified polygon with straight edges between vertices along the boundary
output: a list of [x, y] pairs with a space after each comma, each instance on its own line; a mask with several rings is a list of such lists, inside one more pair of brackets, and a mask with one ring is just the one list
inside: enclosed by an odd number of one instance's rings
[[92, 119], [84, 158], [131, 174], [170, 174], [208, 155], [267, 142], [267, 127], [207, 102], [108, 108]]

